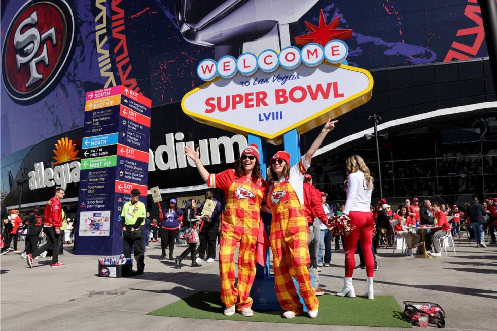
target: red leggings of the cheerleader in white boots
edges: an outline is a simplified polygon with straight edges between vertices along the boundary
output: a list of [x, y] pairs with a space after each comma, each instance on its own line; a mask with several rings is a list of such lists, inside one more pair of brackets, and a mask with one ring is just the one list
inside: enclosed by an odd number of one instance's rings
[[351, 211], [348, 216], [356, 228], [345, 236], [345, 277], [352, 277], [356, 267], [356, 245], [361, 240], [366, 275], [373, 277], [374, 258], [371, 244], [373, 242], [373, 214], [370, 211]]

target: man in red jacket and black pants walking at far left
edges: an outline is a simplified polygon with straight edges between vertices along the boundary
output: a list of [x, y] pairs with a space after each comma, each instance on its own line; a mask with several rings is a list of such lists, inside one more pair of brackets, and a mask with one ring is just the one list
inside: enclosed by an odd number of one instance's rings
[[55, 196], [47, 201], [43, 215], [43, 230], [47, 236], [47, 243], [32, 254], [26, 255], [29, 268], [33, 267], [33, 260], [38, 255], [52, 247], [52, 268], [63, 267], [65, 264], [59, 262], [60, 227], [62, 226], [62, 205], [60, 199], [64, 197], [65, 190], [57, 188]]

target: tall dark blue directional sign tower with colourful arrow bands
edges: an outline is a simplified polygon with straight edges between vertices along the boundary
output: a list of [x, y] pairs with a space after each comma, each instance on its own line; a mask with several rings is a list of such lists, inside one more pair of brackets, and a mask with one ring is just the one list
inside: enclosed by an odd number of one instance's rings
[[122, 253], [121, 208], [135, 188], [147, 202], [151, 106], [121, 85], [86, 94], [76, 254]]

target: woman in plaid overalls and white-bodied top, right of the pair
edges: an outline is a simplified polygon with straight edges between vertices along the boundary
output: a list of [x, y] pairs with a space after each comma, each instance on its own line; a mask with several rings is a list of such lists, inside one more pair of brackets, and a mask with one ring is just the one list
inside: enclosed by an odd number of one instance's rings
[[[309, 151], [290, 168], [290, 154], [279, 151], [271, 158], [268, 182], [271, 184], [267, 207], [272, 213], [270, 242], [273, 252], [276, 296], [283, 317], [293, 318], [304, 312], [292, 278], [299, 284], [309, 317], [317, 317], [319, 301], [310, 283], [307, 266], [309, 258], [309, 233], [304, 209], [304, 174], [310, 167], [312, 156], [325, 136], [334, 129], [335, 122], [328, 120]], [[264, 208], [267, 211], [267, 208]]]

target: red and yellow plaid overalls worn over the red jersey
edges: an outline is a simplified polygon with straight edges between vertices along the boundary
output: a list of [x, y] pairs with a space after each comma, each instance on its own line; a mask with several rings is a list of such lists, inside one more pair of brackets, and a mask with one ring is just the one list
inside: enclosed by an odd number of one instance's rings
[[[223, 215], [219, 275], [221, 301], [226, 307], [236, 304], [236, 310], [250, 308], [250, 289], [256, 276], [256, 246], [261, 222], [261, 203], [264, 197], [261, 186], [235, 178], [226, 196]], [[238, 253], [238, 288], [235, 288], [235, 251]]]

